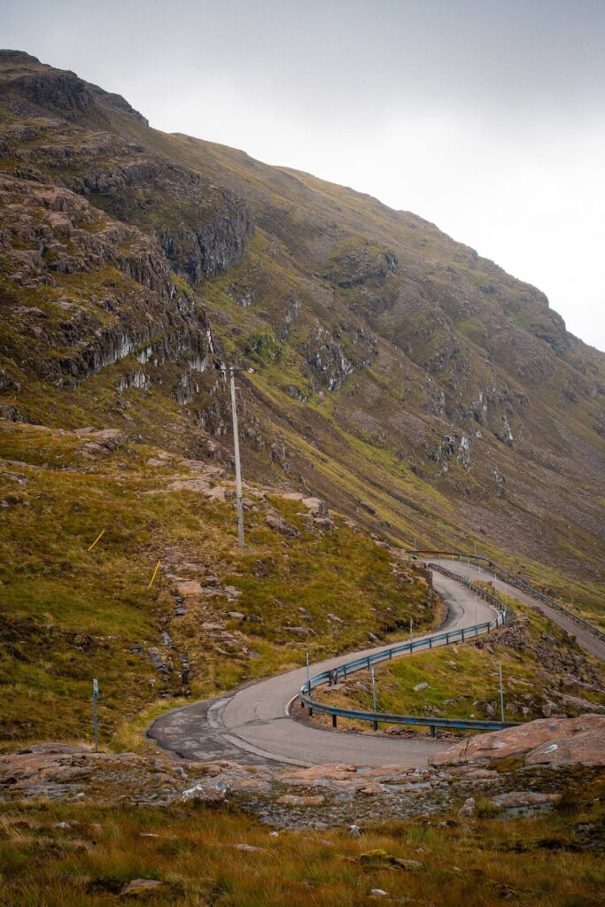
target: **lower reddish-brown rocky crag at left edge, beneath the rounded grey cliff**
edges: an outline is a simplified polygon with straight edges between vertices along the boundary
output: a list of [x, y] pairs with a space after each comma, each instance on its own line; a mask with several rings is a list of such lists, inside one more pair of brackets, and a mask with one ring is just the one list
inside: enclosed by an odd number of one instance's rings
[[[37, 375], [61, 386], [132, 354], [141, 363], [207, 355], [206, 319], [174, 288], [154, 240], [45, 183], [1, 178], [0, 205], [0, 255], [16, 287], [36, 289], [41, 306], [5, 297], [5, 319], [29, 336]], [[70, 278], [80, 278], [75, 292]], [[5, 353], [17, 358], [6, 342]], [[144, 373], [133, 375], [132, 384], [145, 385]]]

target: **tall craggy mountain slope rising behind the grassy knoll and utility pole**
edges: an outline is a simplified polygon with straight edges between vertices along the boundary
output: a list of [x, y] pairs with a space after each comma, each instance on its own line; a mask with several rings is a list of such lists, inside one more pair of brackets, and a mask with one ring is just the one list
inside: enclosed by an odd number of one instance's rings
[[598, 610], [605, 356], [539, 290], [27, 54], [0, 53], [0, 129], [6, 417], [228, 463], [233, 360], [249, 476]]

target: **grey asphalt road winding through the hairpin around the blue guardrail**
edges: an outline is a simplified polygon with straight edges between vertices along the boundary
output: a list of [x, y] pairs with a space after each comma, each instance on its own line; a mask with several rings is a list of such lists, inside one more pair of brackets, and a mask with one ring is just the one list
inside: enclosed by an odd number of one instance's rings
[[[434, 571], [434, 589], [448, 606], [441, 629], [463, 629], [492, 620], [494, 609], [471, 590]], [[434, 632], [434, 631], [433, 631]], [[430, 634], [426, 634], [430, 635]], [[419, 636], [416, 639], [424, 639]], [[389, 649], [389, 645], [347, 653], [311, 665], [310, 675]], [[289, 717], [289, 706], [307, 678], [297, 668], [275, 678], [190, 706], [175, 708], [157, 718], [148, 731], [164, 749], [186, 759], [229, 759], [244, 765], [269, 762], [312, 766], [344, 762], [364, 766], [426, 766], [429, 756], [450, 746], [443, 741], [342, 734], [308, 727]]]

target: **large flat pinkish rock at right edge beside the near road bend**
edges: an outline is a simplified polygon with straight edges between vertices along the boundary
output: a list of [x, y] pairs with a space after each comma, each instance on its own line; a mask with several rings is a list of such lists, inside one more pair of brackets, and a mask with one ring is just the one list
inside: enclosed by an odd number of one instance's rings
[[529, 721], [473, 736], [431, 756], [433, 766], [522, 759], [526, 766], [605, 766], [605, 716]]

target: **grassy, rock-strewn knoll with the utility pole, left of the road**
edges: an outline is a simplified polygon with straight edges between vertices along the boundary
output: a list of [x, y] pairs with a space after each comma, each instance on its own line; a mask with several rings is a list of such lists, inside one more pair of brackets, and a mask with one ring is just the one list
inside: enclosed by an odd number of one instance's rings
[[89, 738], [93, 677], [102, 742], [132, 746], [129, 719], [159, 701], [434, 620], [411, 565], [271, 490], [247, 487], [240, 551], [217, 467], [117, 433], [20, 424], [2, 453], [0, 746]]

